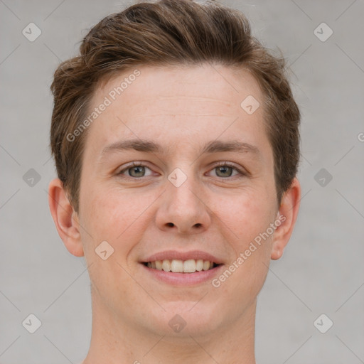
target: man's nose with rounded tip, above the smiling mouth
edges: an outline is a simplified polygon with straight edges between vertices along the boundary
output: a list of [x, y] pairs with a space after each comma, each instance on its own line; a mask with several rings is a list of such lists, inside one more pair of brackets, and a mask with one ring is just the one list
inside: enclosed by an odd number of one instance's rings
[[181, 235], [204, 232], [211, 223], [208, 200], [203, 186], [188, 176], [181, 186], [166, 181], [166, 191], [156, 213], [156, 225], [160, 230], [175, 231]]

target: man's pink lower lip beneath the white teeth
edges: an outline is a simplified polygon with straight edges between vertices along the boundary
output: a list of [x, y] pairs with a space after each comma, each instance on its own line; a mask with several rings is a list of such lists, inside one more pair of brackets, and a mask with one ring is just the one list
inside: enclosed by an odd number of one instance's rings
[[221, 269], [223, 269], [223, 264], [220, 264], [218, 265], [218, 267], [215, 267], [213, 269], [201, 270], [200, 272], [195, 273], [174, 273], [164, 272], [164, 270], [154, 268], [148, 268], [144, 264], [141, 264], [141, 266], [159, 281], [181, 286], [200, 284], [210, 281], [211, 279], [213, 279], [213, 277], [220, 273]]

